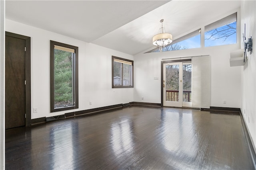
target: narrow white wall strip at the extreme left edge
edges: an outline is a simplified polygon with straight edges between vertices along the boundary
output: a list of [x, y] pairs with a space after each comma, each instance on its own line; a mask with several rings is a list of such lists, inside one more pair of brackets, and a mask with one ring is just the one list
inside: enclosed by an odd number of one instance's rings
[[5, 119], [4, 119], [4, 20], [5, 1], [0, 0], [0, 169], [4, 169], [5, 164]]

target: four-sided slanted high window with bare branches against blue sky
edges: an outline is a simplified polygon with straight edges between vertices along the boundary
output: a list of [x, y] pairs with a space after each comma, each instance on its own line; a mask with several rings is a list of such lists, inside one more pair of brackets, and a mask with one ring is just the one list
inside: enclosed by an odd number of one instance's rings
[[236, 13], [204, 27], [205, 47], [237, 43]]

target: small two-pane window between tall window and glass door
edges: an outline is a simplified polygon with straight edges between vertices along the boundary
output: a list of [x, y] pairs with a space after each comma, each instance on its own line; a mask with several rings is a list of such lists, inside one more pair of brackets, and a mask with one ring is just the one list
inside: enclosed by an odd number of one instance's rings
[[112, 56], [112, 88], [133, 88], [133, 61]]

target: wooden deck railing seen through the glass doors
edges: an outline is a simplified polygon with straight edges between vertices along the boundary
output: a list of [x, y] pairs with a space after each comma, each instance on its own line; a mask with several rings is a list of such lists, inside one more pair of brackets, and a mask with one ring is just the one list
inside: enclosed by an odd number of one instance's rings
[[[192, 102], [191, 90], [183, 90], [183, 102]], [[179, 90], [166, 90], [166, 101], [179, 102]]]

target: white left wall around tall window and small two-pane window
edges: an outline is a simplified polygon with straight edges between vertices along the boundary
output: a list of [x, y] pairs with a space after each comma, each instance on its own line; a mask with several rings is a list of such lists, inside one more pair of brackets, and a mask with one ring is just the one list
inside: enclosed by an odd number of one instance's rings
[[50, 113], [50, 40], [78, 47], [79, 108], [75, 111], [133, 102], [133, 88], [112, 89], [111, 80], [112, 55], [133, 60], [132, 55], [11, 20], [6, 20], [6, 31], [31, 37], [32, 119], [74, 111]]

